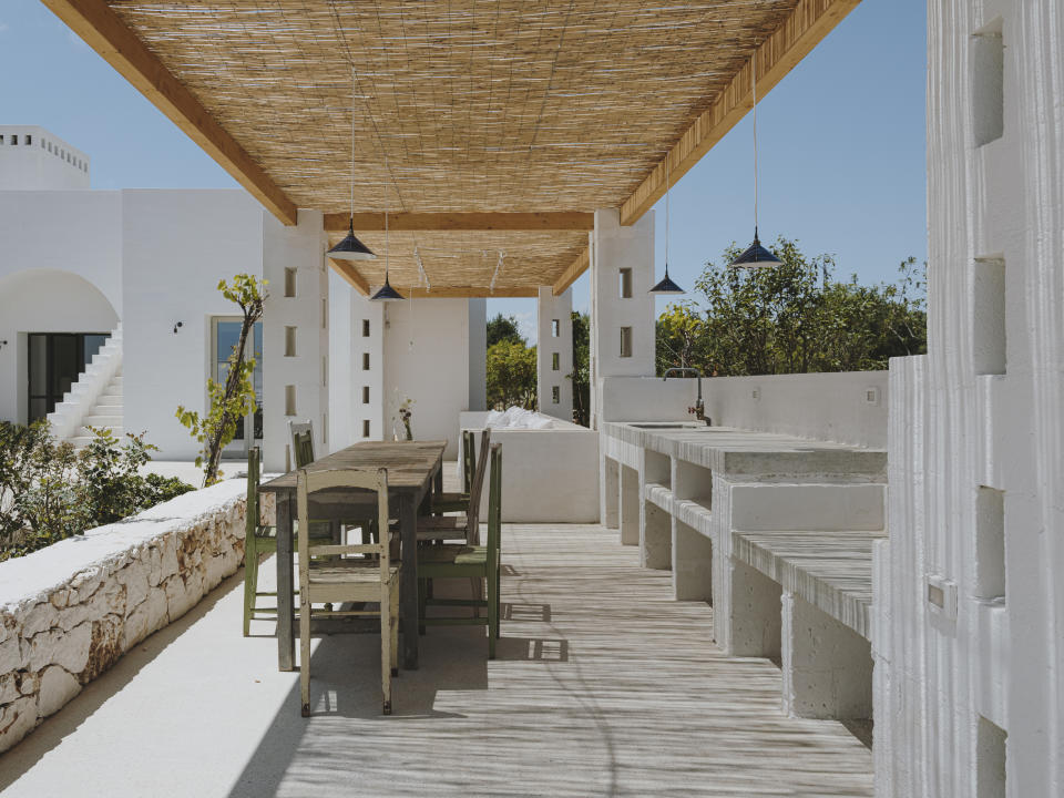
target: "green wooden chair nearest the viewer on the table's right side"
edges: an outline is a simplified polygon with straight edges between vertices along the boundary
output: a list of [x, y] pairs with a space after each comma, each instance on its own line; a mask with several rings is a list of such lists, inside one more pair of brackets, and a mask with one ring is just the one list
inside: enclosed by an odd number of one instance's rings
[[[488, 494], [488, 545], [466, 545], [443, 543], [441, 545], [418, 548], [418, 598], [420, 604], [419, 623], [427, 625], [469, 625], [488, 626], [488, 658], [495, 658], [495, 641], [499, 638], [499, 593], [502, 560], [500, 536], [502, 530], [502, 444], [491, 447], [491, 487]], [[487, 459], [481, 450], [481, 458]], [[432, 598], [429, 596], [429, 581], [433, 579], [470, 577], [488, 584], [485, 598]], [[431, 617], [430, 606], [471, 606], [475, 608], [473, 617]], [[480, 607], [487, 607], [488, 616], [480, 614]]]

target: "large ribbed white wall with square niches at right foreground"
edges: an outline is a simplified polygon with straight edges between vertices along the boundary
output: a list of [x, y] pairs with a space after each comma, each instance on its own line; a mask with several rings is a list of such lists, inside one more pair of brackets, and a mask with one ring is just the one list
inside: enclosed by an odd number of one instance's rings
[[877, 795], [1061, 796], [1064, 13], [930, 0], [928, 41], [929, 354], [891, 364]]

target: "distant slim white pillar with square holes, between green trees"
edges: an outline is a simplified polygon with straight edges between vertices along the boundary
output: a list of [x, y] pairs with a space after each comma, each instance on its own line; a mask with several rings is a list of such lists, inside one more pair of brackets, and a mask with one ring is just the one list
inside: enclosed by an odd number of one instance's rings
[[554, 296], [551, 286], [540, 286], [536, 301], [539, 341], [535, 349], [536, 393], [540, 412], [573, 420], [573, 291]]

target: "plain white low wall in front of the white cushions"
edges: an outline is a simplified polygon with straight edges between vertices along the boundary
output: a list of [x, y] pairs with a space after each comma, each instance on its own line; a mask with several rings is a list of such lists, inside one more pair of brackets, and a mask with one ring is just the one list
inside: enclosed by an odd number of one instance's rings
[[[461, 429], [477, 432], [487, 412], [459, 415]], [[598, 432], [560, 419], [554, 429], [495, 428], [502, 443], [502, 520], [508, 523], [598, 522]], [[479, 452], [478, 452], [479, 454]], [[488, 513], [488, 478], [481, 518]]]

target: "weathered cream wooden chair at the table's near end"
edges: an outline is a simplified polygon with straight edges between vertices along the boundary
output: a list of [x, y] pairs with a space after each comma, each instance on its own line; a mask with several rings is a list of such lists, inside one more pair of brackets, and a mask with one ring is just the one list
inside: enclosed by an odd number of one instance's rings
[[[398, 673], [399, 563], [391, 560], [390, 535], [378, 543], [315, 544], [310, 529], [310, 500], [321, 491], [372, 491], [377, 494], [377, 525], [388, 526], [388, 472], [337, 470], [296, 472], [299, 519], [299, 698], [304, 717], [310, 715], [310, 622], [315, 617], [378, 615], [380, 617], [380, 686], [383, 714], [391, 714], [391, 677]], [[352, 556], [356, 555], [356, 556]], [[315, 604], [361, 603], [361, 610], [319, 610]], [[376, 610], [367, 604], [377, 603]]]

